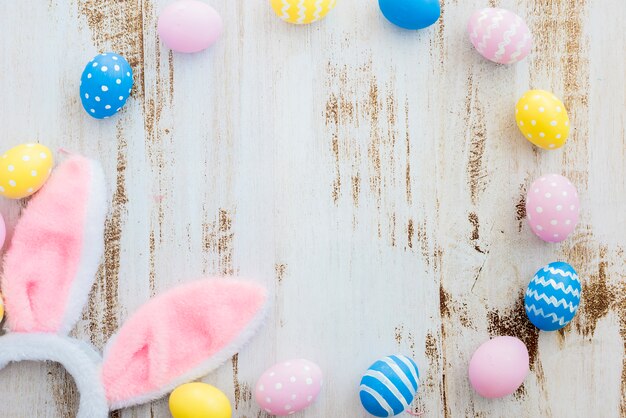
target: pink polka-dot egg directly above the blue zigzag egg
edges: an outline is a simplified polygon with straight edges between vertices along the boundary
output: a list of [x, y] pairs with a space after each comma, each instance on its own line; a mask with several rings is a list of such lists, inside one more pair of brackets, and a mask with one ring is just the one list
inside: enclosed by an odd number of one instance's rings
[[533, 232], [547, 242], [561, 242], [578, 224], [580, 201], [565, 177], [548, 174], [535, 181], [526, 195], [526, 217]]

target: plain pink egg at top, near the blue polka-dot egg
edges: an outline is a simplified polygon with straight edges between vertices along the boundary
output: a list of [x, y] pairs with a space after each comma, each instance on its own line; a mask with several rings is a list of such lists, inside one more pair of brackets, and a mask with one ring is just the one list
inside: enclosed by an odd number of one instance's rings
[[157, 31], [168, 48], [176, 52], [199, 52], [222, 35], [224, 24], [217, 11], [198, 0], [179, 0], [159, 15]]

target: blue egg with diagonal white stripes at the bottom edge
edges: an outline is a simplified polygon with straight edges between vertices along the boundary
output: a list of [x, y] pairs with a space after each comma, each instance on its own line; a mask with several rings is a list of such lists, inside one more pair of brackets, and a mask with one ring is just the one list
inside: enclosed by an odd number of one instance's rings
[[417, 364], [396, 354], [372, 364], [361, 378], [363, 408], [375, 417], [392, 417], [407, 410], [419, 387]]

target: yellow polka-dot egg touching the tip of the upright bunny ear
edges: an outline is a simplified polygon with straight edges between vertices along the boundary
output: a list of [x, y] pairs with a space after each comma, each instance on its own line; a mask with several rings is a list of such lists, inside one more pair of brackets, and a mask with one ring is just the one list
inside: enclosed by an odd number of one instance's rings
[[0, 158], [0, 195], [23, 199], [45, 184], [52, 172], [52, 152], [41, 144], [11, 148]]

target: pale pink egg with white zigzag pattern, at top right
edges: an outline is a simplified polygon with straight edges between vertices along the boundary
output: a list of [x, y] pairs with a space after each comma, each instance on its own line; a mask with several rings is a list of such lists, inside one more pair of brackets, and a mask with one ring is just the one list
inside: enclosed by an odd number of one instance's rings
[[498, 64], [521, 61], [532, 48], [533, 37], [524, 19], [505, 9], [478, 10], [470, 17], [467, 32], [478, 53]]

